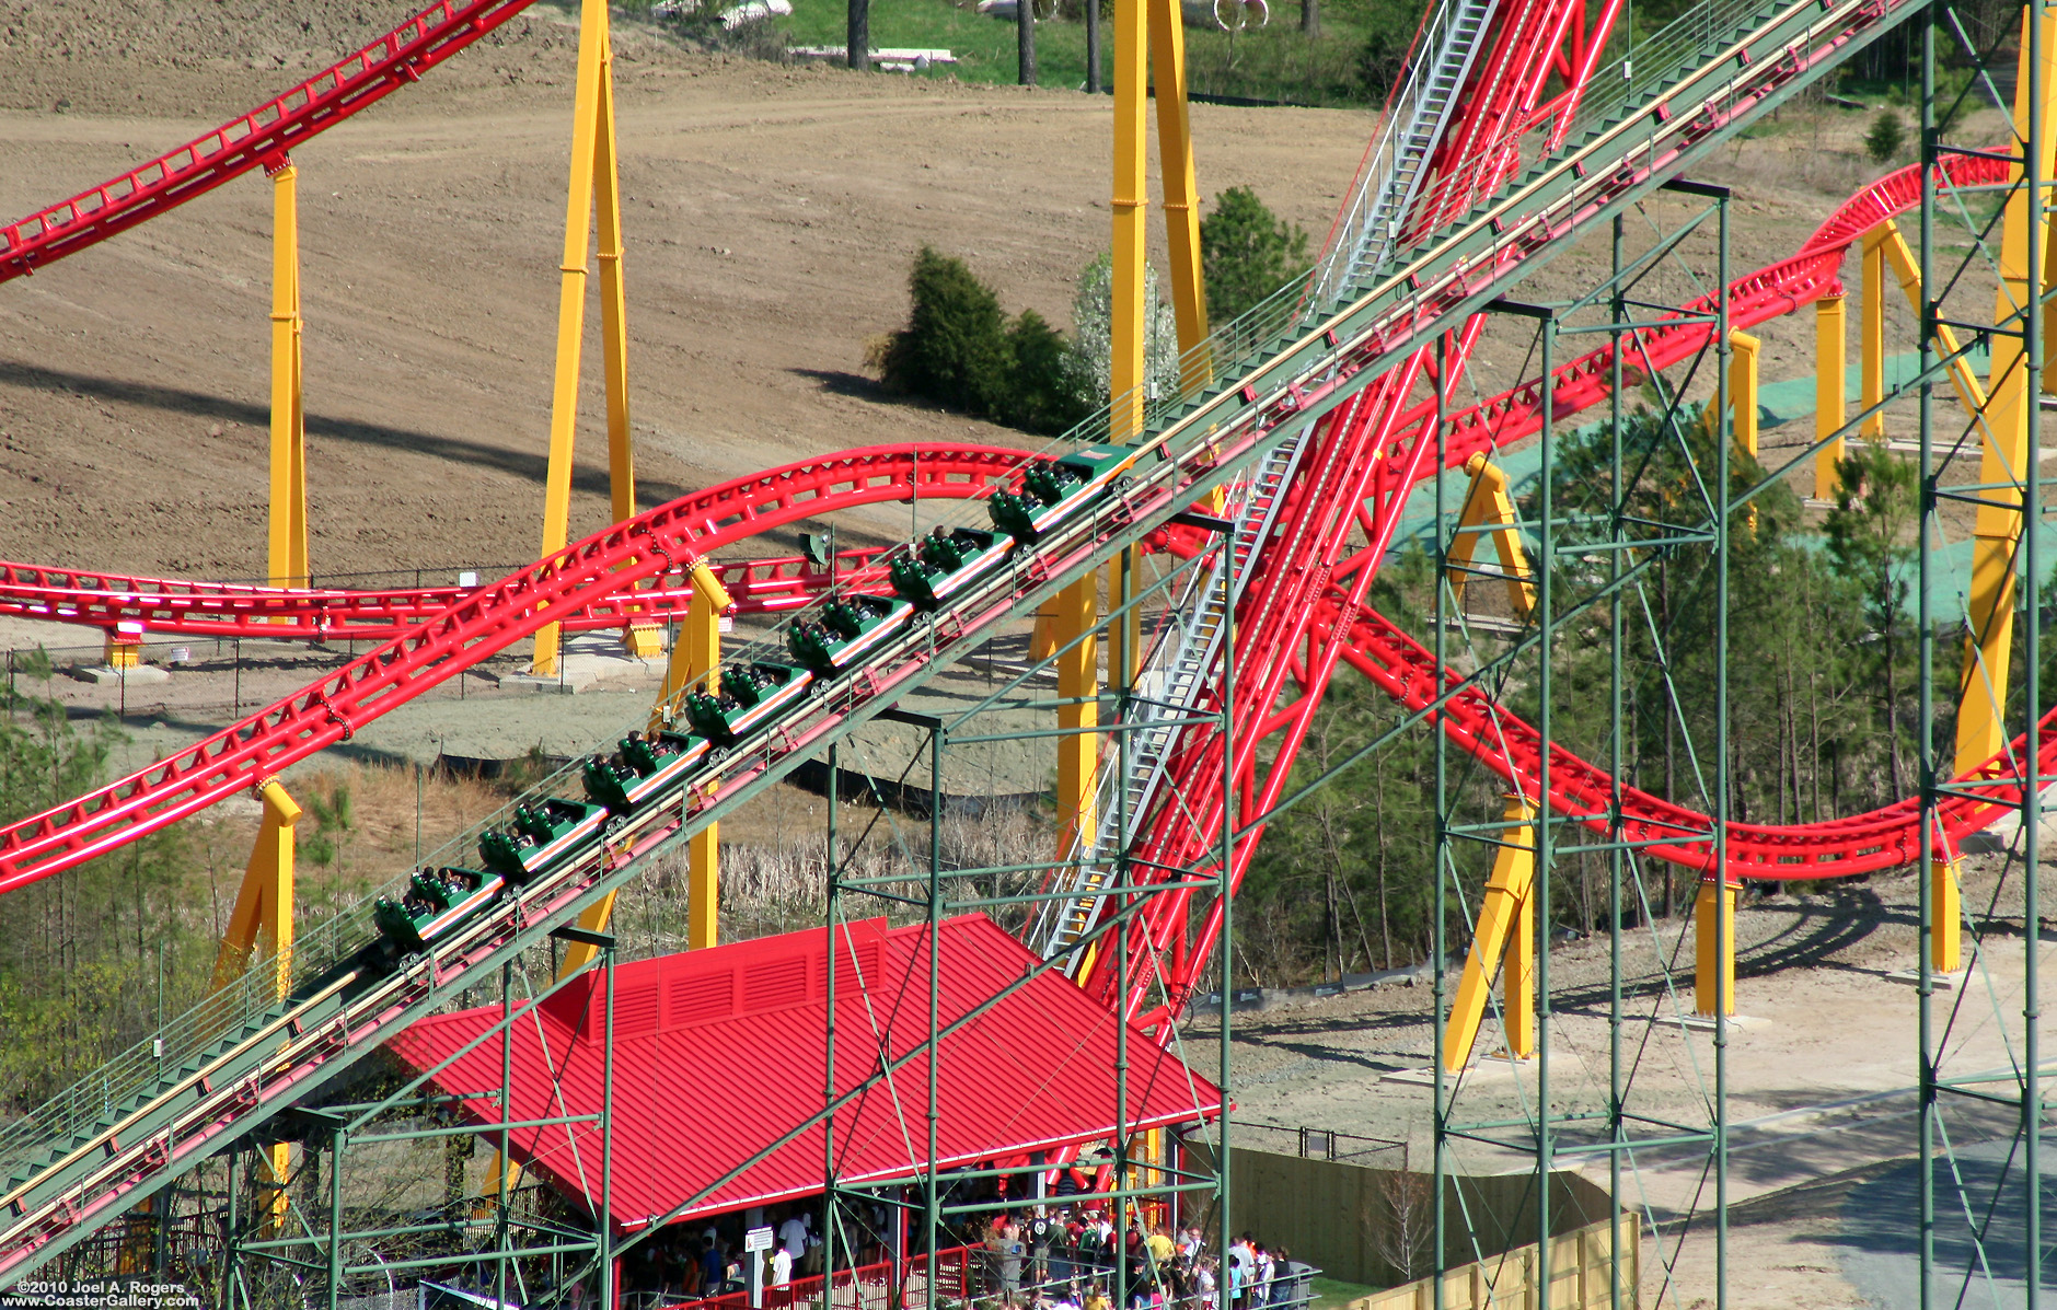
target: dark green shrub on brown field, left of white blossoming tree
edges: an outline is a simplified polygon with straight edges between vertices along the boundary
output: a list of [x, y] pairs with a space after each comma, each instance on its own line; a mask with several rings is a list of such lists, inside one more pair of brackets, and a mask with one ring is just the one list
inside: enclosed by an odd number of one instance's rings
[[1039, 313], [1008, 323], [994, 288], [932, 247], [915, 255], [907, 292], [907, 327], [870, 356], [887, 387], [1028, 432], [1063, 432], [1084, 417], [1070, 343]]

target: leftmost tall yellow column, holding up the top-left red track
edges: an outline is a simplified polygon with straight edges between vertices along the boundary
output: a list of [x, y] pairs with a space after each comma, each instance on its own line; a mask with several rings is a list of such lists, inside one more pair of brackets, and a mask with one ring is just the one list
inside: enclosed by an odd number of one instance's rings
[[280, 156], [272, 179], [272, 586], [306, 586], [306, 407], [300, 391], [298, 171]]

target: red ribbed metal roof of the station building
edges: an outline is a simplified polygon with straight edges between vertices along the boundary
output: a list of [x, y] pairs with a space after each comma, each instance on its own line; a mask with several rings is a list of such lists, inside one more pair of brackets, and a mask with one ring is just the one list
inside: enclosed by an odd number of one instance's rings
[[[847, 1092], [928, 1036], [928, 927], [885, 919], [843, 930], [835, 975], [835, 1086]], [[967, 1016], [1039, 965], [985, 915], [942, 923], [938, 1022]], [[827, 1074], [825, 927], [671, 954], [615, 971], [615, 1137], [611, 1213], [642, 1228], [743, 1166], [823, 1106]], [[599, 1113], [605, 989], [574, 983], [512, 1032], [514, 1121]], [[862, 985], [860, 985], [862, 981]], [[500, 1006], [426, 1018], [391, 1049], [428, 1069], [490, 1030]], [[1098, 1141], [1115, 1131], [1115, 1016], [1061, 973], [1043, 973], [942, 1041], [938, 1164], [1004, 1160]], [[442, 1069], [473, 1121], [498, 1123], [500, 1039]], [[1212, 1117], [1216, 1086], [1129, 1028], [1127, 1125]], [[599, 1125], [510, 1133], [512, 1154], [599, 1209]], [[837, 1113], [837, 1176], [893, 1178], [924, 1166], [928, 1057], [917, 1055]], [[808, 1197], [823, 1187], [815, 1125], [693, 1203], [687, 1215]]]

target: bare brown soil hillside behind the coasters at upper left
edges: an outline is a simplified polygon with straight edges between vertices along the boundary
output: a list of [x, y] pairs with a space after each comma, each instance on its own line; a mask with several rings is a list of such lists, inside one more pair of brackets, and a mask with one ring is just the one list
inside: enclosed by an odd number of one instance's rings
[[[0, 212], [171, 148], [403, 10], [10, 0]], [[298, 152], [321, 572], [537, 553], [574, 35], [537, 6]], [[644, 504], [870, 442], [1024, 442], [882, 397], [864, 343], [905, 319], [924, 243], [1070, 321], [1107, 243], [1105, 99], [697, 56], [627, 23], [617, 49]], [[1199, 107], [1199, 169], [1319, 234], [1366, 132]], [[269, 206], [241, 179], [0, 290], [0, 555], [261, 570]], [[605, 516], [597, 317], [574, 533]]]

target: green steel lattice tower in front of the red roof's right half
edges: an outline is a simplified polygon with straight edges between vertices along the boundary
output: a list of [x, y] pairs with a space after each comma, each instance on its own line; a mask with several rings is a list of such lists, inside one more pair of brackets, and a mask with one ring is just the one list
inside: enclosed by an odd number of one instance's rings
[[[1224, 590], [1234, 586], [1232, 547], [1232, 537], [1224, 533], [1216, 539], [1212, 551], [1224, 561], [1216, 574]], [[1193, 576], [1201, 576], [1203, 563], [1207, 563], [1205, 555], [1187, 561], [1185, 568], [1193, 570]], [[928, 1164], [903, 1176], [866, 1178], [858, 1185], [839, 1174], [837, 1148], [843, 1133], [839, 1108], [850, 1102], [847, 1065], [856, 1061], [860, 1069], [872, 1069], [878, 1063], [878, 1055], [874, 1032], [843, 1032], [835, 1022], [835, 997], [839, 989], [845, 985], [864, 989], [868, 979], [854, 967], [833, 967], [827, 971], [831, 1024], [825, 1032], [827, 1074], [821, 1115], [825, 1127], [823, 1195], [827, 1199], [827, 1265], [835, 1269], [850, 1257], [854, 1236], [866, 1222], [864, 1215], [872, 1207], [882, 1207], [893, 1215], [889, 1220], [893, 1232], [876, 1236], [891, 1252], [891, 1259], [901, 1265], [895, 1277], [893, 1304], [907, 1310], [930, 1310], [938, 1304], [936, 1296], [954, 1300], [954, 1289], [936, 1289], [932, 1294], [932, 1283], [926, 1281], [928, 1275], [919, 1273], [938, 1269], [938, 1252], [957, 1240], [946, 1236], [950, 1228], [998, 1211], [1018, 1213], [1024, 1195], [1045, 1195], [1047, 1170], [1055, 1168], [1080, 1166], [1094, 1176], [1094, 1195], [1117, 1207], [1113, 1215], [1117, 1232], [1125, 1230], [1131, 1220], [1152, 1213], [1162, 1215], [1166, 1209], [1175, 1209], [1189, 1222], [1207, 1220], [1216, 1226], [1216, 1232], [1232, 1232], [1234, 1217], [1228, 1203], [1230, 1164], [1226, 1152], [1228, 1098], [1232, 1094], [1226, 1041], [1226, 1034], [1232, 1030], [1232, 950], [1220, 954], [1218, 1022], [1224, 1041], [1218, 1047], [1220, 1063], [1218, 1074], [1214, 1074], [1220, 1084], [1220, 1100], [1193, 1106], [1193, 1125], [1181, 1137], [1181, 1145], [1172, 1145], [1172, 1135], [1156, 1129], [1138, 1129], [1129, 1121], [1129, 1104], [1140, 1088], [1131, 1088], [1131, 1034], [1129, 1024], [1121, 1024], [1115, 1034], [1111, 1133], [1105, 1141], [1090, 1145], [1090, 1156], [1082, 1156], [1076, 1148], [1061, 1148], [1043, 1154], [1026, 1170], [934, 1168], [942, 1133], [938, 1080], [940, 1069], [950, 1059], [950, 1051], [942, 1047], [946, 1030], [938, 1010], [942, 950], [946, 948], [942, 936], [944, 921], [963, 913], [985, 913], [1002, 925], [1022, 932], [1045, 907], [1061, 905], [1080, 895], [1078, 886], [1063, 880], [1066, 870], [1061, 866], [1051, 868], [1041, 862], [1028, 862], [963, 868], [946, 864], [944, 851], [950, 843], [946, 825], [957, 823], [950, 818], [952, 810], [957, 810], [948, 802], [950, 779], [977, 775], [975, 761], [983, 749], [1055, 736], [1061, 753], [1076, 755], [1078, 763], [1074, 767], [1084, 771], [1084, 796], [1092, 804], [1094, 792], [1090, 784], [1094, 761], [1105, 759], [1103, 767], [1125, 769], [1131, 738], [1148, 730], [1150, 720], [1138, 714], [1140, 707], [1135, 703], [1133, 670], [1142, 664], [1142, 652], [1131, 648], [1135, 640], [1131, 633], [1142, 627], [1135, 621], [1142, 607], [1160, 605], [1162, 596], [1168, 594], [1164, 590], [1168, 584], [1166, 580], [1158, 580], [1154, 586], [1144, 586], [1135, 576], [1133, 561], [1123, 559], [1115, 561], [1113, 588], [1105, 605], [1100, 603], [1096, 584], [1098, 576], [1088, 574], [1084, 582], [1059, 592], [1057, 629], [1070, 635], [1053, 642], [1051, 650], [1033, 654], [1028, 668], [1014, 675], [1008, 685], [983, 701], [973, 703], [969, 709], [952, 701], [942, 701], [942, 705], [948, 705], [946, 714], [889, 709], [882, 718], [919, 730], [919, 740], [907, 751], [905, 765], [899, 759], [874, 761], [870, 749], [847, 742], [831, 747], [827, 757], [829, 806], [825, 816], [825, 849], [829, 866], [827, 927], [831, 950], [841, 960], [841, 952], [847, 950], [843, 944], [850, 942], [850, 925], [878, 913], [895, 915], [905, 923], [917, 923], [928, 936], [930, 995], [924, 1049], [934, 1049], [936, 1055], [926, 1063], [926, 1113], [905, 1113], [899, 1125], [901, 1135], [917, 1143]], [[1086, 681], [1088, 670], [1098, 662], [1098, 648], [1103, 644], [1109, 648], [1107, 687], [1100, 687], [1096, 677], [1090, 683]], [[1020, 712], [1047, 712], [1049, 707], [1049, 699], [1031, 697], [1033, 679], [1043, 672], [1057, 672], [1059, 677], [1057, 703], [1066, 714], [1063, 726], [1055, 732], [1022, 732], [1014, 728], [1020, 722]], [[1236, 724], [1236, 707], [1232, 703], [1210, 705], [1193, 714], [1195, 718], [1220, 724], [1228, 732]], [[948, 761], [957, 753], [971, 753], [971, 761], [948, 769]], [[887, 773], [897, 773], [893, 777], [897, 790], [905, 790], [909, 784], [922, 788], [926, 779], [930, 800], [909, 821], [897, 818], [887, 804], [889, 790], [874, 775], [878, 763], [891, 765]], [[872, 802], [860, 812], [862, 827], [856, 829], [843, 806], [847, 800], [845, 779], [852, 777], [862, 779], [862, 798]], [[1125, 812], [1127, 792], [1113, 788], [1109, 804], [1115, 806], [1115, 816], [1125, 831], [1129, 818]], [[971, 814], [973, 810], [967, 806], [961, 812]], [[1063, 831], [1076, 827], [1084, 835], [1084, 843], [1068, 851], [1068, 860], [1105, 860], [1107, 868], [1090, 882], [1090, 890], [1084, 893], [1098, 901], [1098, 913], [1090, 917], [1084, 938], [1070, 950], [1049, 956], [1035, 971], [1037, 975], [1053, 973], [1061, 977], [1066, 960], [1078, 954], [1109, 960], [1121, 979], [1127, 981], [1129, 958], [1121, 948], [1121, 940], [1144, 921], [1152, 897], [1193, 888], [1205, 888], [1214, 895], [1228, 893], [1232, 862], [1228, 860], [1226, 841], [1210, 849], [1205, 860], [1191, 870], [1135, 870], [1129, 866], [1127, 849], [1107, 851], [1092, 843], [1094, 827], [1090, 810], [1084, 825], [1078, 823], [1076, 812], [1059, 810], [1057, 827]], [[866, 856], [870, 858], [866, 860]], [[860, 866], [876, 870], [878, 856], [889, 858], [887, 872], [858, 872]], [[1232, 923], [1226, 932], [1232, 934]], [[1232, 936], [1224, 940], [1232, 946]], [[850, 962], [854, 965], [856, 958], [852, 956]], [[1138, 979], [1138, 985], [1162, 989], [1164, 979]], [[1154, 1036], [1160, 1045], [1177, 1049], [1179, 1036], [1175, 1032], [1158, 1032]], [[841, 1092], [837, 1090], [839, 1065], [843, 1065]], [[1210, 1121], [1218, 1123], [1220, 1129], [1212, 1127]], [[998, 1201], [952, 1199], [952, 1191], [963, 1185], [998, 1176], [1010, 1178], [1008, 1197]], [[1115, 1261], [1111, 1277], [1109, 1296], [1117, 1304], [1127, 1304], [1127, 1263]]]

